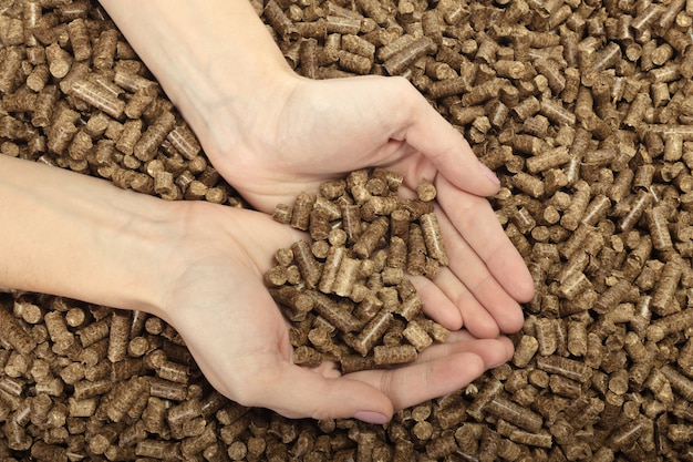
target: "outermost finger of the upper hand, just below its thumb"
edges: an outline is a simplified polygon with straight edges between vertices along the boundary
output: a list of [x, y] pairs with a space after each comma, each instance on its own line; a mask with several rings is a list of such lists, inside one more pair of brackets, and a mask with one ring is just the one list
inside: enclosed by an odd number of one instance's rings
[[438, 204], [446, 217], [496, 280], [517, 301], [531, 300], [534, 283], [529, 270], [503, 230], [488, 202], [461, 192], [444, 177], [438, 176], [436, 187]]

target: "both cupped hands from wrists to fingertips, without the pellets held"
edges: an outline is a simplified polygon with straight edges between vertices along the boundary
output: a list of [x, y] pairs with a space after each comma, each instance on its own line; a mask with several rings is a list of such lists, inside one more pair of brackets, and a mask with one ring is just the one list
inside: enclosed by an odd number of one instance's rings
[[[289, 418], [385, 423], [396, 410], [459, 390], [511, 358], [503, 333], [521, 328], [519, 304], [534, 287], [486, 199], [498, 181], [406, 80], [294, 76], [242, 104], [242, 115], [221, 102], [192, 125], [255, 211], [189, 204], [178, 248], [185, 265], [166, 307], [166, 320], [218, 391]], [[300, 192], [375, 166], [403, 174], [404, 195], [423, 178], [437, 188], [451, 264], [433, 280], [412, 280], [425, 314], [453, 332], [397, 368], [341, 374], [329, 363], [294, 366], [287, 324], [262, 275], [278, 248], [306, 236], [270, 215]]]

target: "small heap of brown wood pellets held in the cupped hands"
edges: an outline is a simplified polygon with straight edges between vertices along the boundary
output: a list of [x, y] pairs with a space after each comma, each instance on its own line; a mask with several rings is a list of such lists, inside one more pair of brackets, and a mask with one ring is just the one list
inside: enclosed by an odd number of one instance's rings
[[434, 279], [448, 256], [434, 212], [435, 186], [423, 181], [417, 198], [396, 193], [401, 174], [375, 168], [301, 193], [273, 218], [309, 232], [275, 254], [265, 280], [292, 322], [293, 362], [339, 365], [342, 373], [416, 360], [448, 330], [427, 319], [414, 284]]

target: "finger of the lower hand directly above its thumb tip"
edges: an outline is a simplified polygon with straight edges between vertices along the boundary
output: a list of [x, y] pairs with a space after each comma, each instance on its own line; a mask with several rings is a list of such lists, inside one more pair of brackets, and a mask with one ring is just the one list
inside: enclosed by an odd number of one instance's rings
[[397, 369], [360, 371], [346, 377], [380, 389], [394, 409], [400, 410], [457, 391], [485, 370], [478, 355], [458, 352]]

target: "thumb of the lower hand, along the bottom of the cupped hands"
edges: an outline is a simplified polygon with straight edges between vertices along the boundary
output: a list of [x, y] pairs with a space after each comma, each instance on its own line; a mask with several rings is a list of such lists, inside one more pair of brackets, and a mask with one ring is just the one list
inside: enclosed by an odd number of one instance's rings
[[298, 419], [354, 418], [383, 424], [394, 412], [392, 402], [380, 390], [344, 377], [327, 378], [320, 372], [283, 362], [268, 387], [257, 390], [262, 407]]

